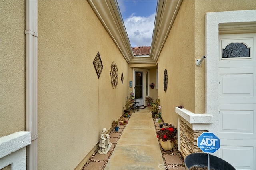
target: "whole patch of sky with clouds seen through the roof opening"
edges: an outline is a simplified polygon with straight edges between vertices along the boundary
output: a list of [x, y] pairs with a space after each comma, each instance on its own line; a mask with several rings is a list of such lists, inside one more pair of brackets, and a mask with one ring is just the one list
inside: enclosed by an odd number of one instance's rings
[[151, 46], [157, 0], [118, 0], [132, 47]]

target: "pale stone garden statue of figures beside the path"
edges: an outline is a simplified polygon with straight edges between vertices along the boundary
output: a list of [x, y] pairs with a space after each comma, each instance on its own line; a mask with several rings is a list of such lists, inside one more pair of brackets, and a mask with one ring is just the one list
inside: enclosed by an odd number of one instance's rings
[[100, 144], [99, 144], [99, 154], [107, 154], [110, 150], [112, 143], [109, 141], [109, 134], [105, 134], [107, 131], [106, 128], [102, 129], [101, 135], [100, 135]]

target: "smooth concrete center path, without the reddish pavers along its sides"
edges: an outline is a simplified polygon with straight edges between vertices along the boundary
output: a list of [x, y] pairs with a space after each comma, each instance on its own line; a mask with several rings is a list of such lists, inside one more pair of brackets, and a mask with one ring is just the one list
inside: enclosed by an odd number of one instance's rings
[[155, 170], [164, 165], [148, 109], [132, 113], [105, 170]]

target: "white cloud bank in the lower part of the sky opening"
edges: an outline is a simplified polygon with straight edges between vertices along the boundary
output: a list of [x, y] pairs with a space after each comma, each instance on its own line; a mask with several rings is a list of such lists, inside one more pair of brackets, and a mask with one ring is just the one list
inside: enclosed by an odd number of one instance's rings
[[155, 14], [150, 16], [131, 16], [124, 20], [126, 32], [132, 47], [150, 46], [154, 30]]

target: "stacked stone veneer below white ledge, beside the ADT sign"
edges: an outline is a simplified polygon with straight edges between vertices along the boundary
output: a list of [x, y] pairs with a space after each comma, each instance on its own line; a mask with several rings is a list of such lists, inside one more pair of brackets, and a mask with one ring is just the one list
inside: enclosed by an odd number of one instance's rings
[[192, 130], [186, 123], [180, 120], [180, 153], [183, 158], [189, 154], [202, 152], [197, 146], [197, 138], [207, 130]]

